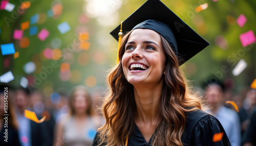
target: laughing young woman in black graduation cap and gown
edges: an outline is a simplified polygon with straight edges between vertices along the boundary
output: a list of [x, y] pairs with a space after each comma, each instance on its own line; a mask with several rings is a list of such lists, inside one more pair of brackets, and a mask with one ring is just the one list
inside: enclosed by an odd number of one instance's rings
[[93, 145], [230, 145], [179, 68], [181, 58], [200, 52], [206, 41], [158, 0], [148, 0], [122, 26], [132, 31], [123, 36], [120, 61], [108, 76], [110, 92], [102, 106], [106, 124]]

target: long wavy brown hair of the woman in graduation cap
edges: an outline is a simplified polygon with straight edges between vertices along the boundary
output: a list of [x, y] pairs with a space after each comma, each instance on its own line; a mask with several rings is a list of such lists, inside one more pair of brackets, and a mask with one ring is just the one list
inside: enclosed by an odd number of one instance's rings
[[[132, 31], [122, 41], [119, 58]], [[161, 35], [160, 35], [161, 36]], [[178, 60], [169, 43], [161, 36], [165, 54], [165, 75], [162, 94], [159, 99], [159, 125], [153, 136], [153, 145], [183, 145], [181, 141], [185, 129], [186, 112], [203, 108], [200, 98], [188, 84], [179, 68]], [[102, 112], [106, 123], [99, 128], [100, 141], [110, 145], [124, 145], [125, 138], [133, 133], [136, 103], [134, 88], [124, 77], [122, 63], [114, 66], [108, 75], [109, 93], [106, 95]]]

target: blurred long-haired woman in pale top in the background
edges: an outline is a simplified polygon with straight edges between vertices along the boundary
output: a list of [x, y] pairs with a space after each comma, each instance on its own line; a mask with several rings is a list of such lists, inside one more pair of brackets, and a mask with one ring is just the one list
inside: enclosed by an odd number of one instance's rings
[[92, 100], [84, 86], [76, 86], [69, 98], [70, 115], [57, 123], [55, 145], [92, 145], [100, 125], [94, 116]]

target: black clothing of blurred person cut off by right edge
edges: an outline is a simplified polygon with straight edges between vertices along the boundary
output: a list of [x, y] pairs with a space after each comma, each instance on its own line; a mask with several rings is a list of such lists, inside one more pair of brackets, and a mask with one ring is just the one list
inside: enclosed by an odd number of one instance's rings
[[243, 135], [243, 146], [256, 145], [256, 108], [251, 115], [249, 125]]

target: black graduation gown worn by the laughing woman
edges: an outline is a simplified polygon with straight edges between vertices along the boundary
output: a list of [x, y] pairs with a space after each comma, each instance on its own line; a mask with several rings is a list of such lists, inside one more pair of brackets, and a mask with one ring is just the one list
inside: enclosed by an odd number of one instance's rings
[[[181, 137], [183, 145], [231, 145], [229, 139], [224, 131], [220, 121], [214, 116], [202, 111], [197, 110], [189, 112], [186, 116], [186, 127], [185, 131]], [[213, 142], [212, 137], [216, 133], [224, 132], [223, 138], [221, 141]], [[94, 138], [93, 146], [100, 143], [97, 139], [98, 133]], [[153, 137], [153, 136], [152, 136]], [[134, 127], [134, 134], [129, 136], [127, 145], [136, 145], [136, 146], [147, 146], [151, 145], [152, 137], [148, 143], [141, 134], [139, 128]], [[100, 146], [104, 146], [105, 143]]]

